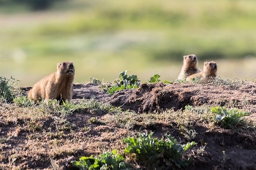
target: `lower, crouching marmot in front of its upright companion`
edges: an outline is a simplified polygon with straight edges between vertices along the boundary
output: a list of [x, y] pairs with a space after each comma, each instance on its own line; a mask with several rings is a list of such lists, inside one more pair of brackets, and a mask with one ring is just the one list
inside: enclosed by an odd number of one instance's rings
[[217, 63], [214, 61], [204, 63], [203, 72], [192, 74], [186, 80], [191, 81], [195, 77], [200, 78], [200, 83], [208, 83], [208, 80], [213, 80], [217, 77]]

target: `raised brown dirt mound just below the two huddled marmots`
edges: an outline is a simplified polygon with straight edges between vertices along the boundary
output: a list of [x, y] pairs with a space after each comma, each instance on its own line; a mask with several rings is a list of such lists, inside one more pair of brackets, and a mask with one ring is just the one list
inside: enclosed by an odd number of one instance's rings
[[114, 93], [108, 101], [116, 107], [135, 112], [162, 112], [166, 109], [184, 109], [185, 106], [236, 105], [255, 113], [255, 84], [227, 90], [225, 86], [198, 85], [192, 83], [142, 84], [135, 90]]

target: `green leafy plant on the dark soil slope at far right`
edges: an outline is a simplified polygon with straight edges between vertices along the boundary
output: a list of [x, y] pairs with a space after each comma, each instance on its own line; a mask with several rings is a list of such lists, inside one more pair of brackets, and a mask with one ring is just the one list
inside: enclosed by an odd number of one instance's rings
[[227, 110], [225, 107], [211, 107], [211, 112], [216, 113], [217, 123], [224, 128], [231, 128], [242, 124], [241, 117], [248, 116], [249, 112], [238, 110], [237, 108]]

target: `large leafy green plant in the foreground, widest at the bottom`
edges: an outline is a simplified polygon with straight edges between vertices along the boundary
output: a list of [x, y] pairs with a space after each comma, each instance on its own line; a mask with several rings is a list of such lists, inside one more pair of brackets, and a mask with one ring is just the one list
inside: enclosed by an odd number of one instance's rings
[[124, 149], [127, 154], [135, 154], [136, 161], [146, 165], [146, 169], [174, 169], [187, 166], [189, 160], [184, 158], [184, 153], [194, 146], [195, 142], [178, 144], [173, 136], [165, 134], [166, 139], [157, 139], [151, 134], [140, 134], [139, 138], [129, 137], [123, 139], [128, 147]]

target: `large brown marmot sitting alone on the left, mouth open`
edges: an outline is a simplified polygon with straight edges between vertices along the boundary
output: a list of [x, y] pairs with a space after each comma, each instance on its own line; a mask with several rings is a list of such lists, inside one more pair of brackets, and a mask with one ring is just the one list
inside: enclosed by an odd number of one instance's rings
[[72, 99], [74, 77], [75, 67], [72, 62], [58, 63], [57, 72], [39, 80], [29, 90], [28, 97], [35, 101], [45, 100], [46, 104], [48, 104], [49, 99], [57, 99], [60, 103], [70, 101]]

